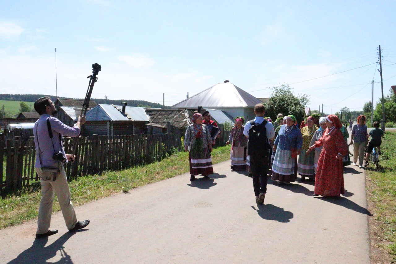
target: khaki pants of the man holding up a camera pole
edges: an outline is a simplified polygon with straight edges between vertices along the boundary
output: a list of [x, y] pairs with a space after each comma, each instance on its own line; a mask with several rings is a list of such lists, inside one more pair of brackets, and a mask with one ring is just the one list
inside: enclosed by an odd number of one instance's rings
[[[70, 201], [70, 189], [67, 184], [65, 168], [62, 166], [61, 173], [55, 182], [46, 182], [40, 179], [41, 182], [41, 201], [38, 208], [37, 233], [44, 234], [49, 230], [51, 224], [52, 203], [54, 198], [54, 191], [58, 197], [59, 205], [61, 206], [63, 218], [67, 229], [72, 229], [77, 223], [76, 213], [72, 202]], [[38, 176], [41, 176], [41, 168], [36, 168]]]

